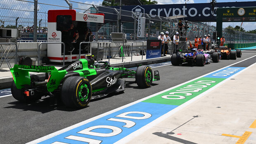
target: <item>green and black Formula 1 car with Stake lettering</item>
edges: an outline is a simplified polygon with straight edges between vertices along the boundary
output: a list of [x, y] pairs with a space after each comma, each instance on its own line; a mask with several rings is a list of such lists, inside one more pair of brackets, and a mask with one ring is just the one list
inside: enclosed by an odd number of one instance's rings
[[[54, 66], [27, 66], [15, 64], [10, 69], [14, 82], [11, 91], [21, 102], [33, 102], [42, 96], [55, 96], [69, 107], [83, 108], [90, 99], [104, 97], [113, 92], [125, 90], [125, 80], [135, 78], [139, 87], [150, 87], [152, 81], [160, 80], [159, 71], [149, 66], [138, 66], [137, 70], [110, 67], [108, 61], [95, 62], [94, 59], [79, 59], [69, 66], [57, 70]], [[50, 73], [48, 80], [40, 81], [29, 72]]]

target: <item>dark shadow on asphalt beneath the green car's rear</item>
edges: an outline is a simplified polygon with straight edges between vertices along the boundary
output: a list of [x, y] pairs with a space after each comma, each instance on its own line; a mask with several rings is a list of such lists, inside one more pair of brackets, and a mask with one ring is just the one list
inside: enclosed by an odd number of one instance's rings
[[[37, 111], [41, 113], [47, 113], [50, 111], [78, 111], [80, 109], [66, 107], [62, 102], [53, 98], [53, 97], [45, 97], [36, 102], [23, 103], [19, 101], [9, 102], [12, 106], [4, 107], [5, 109], [21, 109], [23, 111]], [[89, 106], [86, 106], [89, 107]], [[86, 108], [85, 107], [85, 108]], [[84, 109], [84, 108], [83, 108]]]

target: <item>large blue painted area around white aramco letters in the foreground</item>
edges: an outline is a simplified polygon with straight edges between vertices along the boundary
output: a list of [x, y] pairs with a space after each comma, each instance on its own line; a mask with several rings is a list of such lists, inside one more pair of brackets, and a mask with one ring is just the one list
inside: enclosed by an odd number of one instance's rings
[[[81, 125], [72, 130], [64, 132], [60, 135], [57, 135], [50, 139], [47, 139], [43, 142], [40, 142], [39, 144], [51, 144], [53, 142], [65, 142], [65, 143], [69, 143], [69, 144], [80, 144], [80, 143], [84, 144], [84, 142], [79, 142], [77, 140], [65, 138], [70, 135], [100, 140], [100, 141], [102, 141], [100, 144], [113, 144], [114, 142], [117, 142], [120, 139], [122, 139], [123, 137], [126, 137], [127, 135], [131, 134], [132, 132], [135, 132], [136, 130], [147, 125], [148, 123], [152, 122], [156, 118], [159, 118], [160, 116], [164, 115], [165, 113], [171, 111], [172, 109], [174, 109], [176, 107], [178, 107], [178, 106], [168, 105], [168, 104], [154, 104], [154, 103], [147, 103], [147, 102], [139, 102], [139, 103], [129, 106], [125, 109], [121, 109], [120, 111], [116, 111], [107, 116], [104, 116], [102, 118], [94, 120], [90, 123], [86, 123], [85, 125]], [[117, 117], [118, 115], [120, 115], [122, 113], [133, 112], [133, 111], [149, 113], [150, 117], [145, 118], [145, 119], [134, 119], [134, 118], [141, 118], [143, 116], [147, 116], [147, 115], [143, 115], [140, 113], [130, 113], [130, 114], [126, 115], [126, 116], [132, 116], [131, 118]], [[132, 127], [124, 127], [126, 125], [126, 123], [108, 120], [109, 118], [129, 120], [129, 121], [132, 121], [133, 123], [135, 123], [135, 125], [133, 125]], [[88, 127], [93, 127], [93, 126], [98, 126], [98, 125], [110, 125], [110, 126], [118, 127], [121, 129], [121, 133], [119, 133], [118, 135], [111, 136], [111, 137], [100, 137], [100, 136], [94, 136], [94, 135], [81, 134], [82, 130], [85, 130]], [[98, 132], [98, 133], [108, 134], [108, 133], [113, 132], [113, 130], [107, 129], [107, 128], [97, 128], [97, 129], [91, 130], [90, 132]]]

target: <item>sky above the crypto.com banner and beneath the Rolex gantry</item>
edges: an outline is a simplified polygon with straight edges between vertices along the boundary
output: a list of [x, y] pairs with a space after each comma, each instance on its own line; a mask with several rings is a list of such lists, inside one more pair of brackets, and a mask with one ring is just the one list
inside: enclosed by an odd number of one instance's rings
[[[88, 4], [95, 4], [99, 5], [102, 4], [103, 0], [79, 0], [83, 1], [84, 3]], [[151, 0], [152, 1], [152, 0]], [[184, 4], [185, 0], [156, 0], [158, 4]], [[234, 2], [235, 0], [216, 0], [217, 2]], [[255, 0], [236, 0], [236, 2], [247, 2], [247, 1], [255, 1]], [[211, 2], [211, 0], [188, 0], [187, 3], [206, 3]], [[216, 26], [216, 22], [211, 22], [212, 26]], [[223, 23], [223, 28], [227, 26], [241, 26], [241, 22], [225, 22]], [[256, 29], [256, 22], [244, 22], [242, 25], [242, 28], [244, 28], [246, 31], [254, 30]]]

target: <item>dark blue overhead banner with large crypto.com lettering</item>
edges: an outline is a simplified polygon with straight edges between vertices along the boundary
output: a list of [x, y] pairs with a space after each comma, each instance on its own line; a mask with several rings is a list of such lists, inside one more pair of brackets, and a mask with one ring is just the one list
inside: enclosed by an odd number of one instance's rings
[[[216, 21], [216, 9], [218, 7], [256, 7], [256, 2], [217, 2], [214, 7], [214, 13], [211, 11], [210, 3], [193, 4], [170, 4], [170, 5], [128, 5], [122, 6], [122, 10], [133, 12], [145, 12], [151, 17], [171, 17], [175, 15], [184, 15], [188, 21]], [[114, 6], [119, 9], [119, 6]]]

